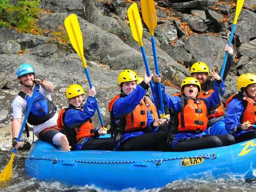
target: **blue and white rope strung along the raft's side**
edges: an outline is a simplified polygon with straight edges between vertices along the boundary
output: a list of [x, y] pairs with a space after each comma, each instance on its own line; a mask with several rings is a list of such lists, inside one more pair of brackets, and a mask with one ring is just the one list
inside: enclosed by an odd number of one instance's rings
[[205, 155], [198, 155], [193, 157], [172, 157], [172, 158], [166, 158], [166, 159], [154, 159], [154, 160], [130, 160], [130, 161], [87, 161], [87, 160], [70, 160], [70, 159], [57, 159], [57, 157], [54, 158], [47, 158], [47, 157], [34, 157], [33, 155], [28, 156], [29, 159], [35, 159], [35, 160], [50, 160], [53, 164], [57, 163], [58, 161], [75, 161], [78, 163], [136, 163], [136, 162], [156, 162], [157, 165], [160, 165], [163, 161], [169, 161], [169, 160], [179, 160], [179, 159], [191, 159], [191, 158], [205, 158], [205, 159], [215, 159], [216, 154], [215, 153], [208, 153]]

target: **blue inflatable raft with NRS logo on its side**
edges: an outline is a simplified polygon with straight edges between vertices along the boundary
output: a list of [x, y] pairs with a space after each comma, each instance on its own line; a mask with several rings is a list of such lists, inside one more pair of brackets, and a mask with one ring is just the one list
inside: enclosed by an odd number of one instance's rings
[[37, 140], [26, 159], [30, 177], [102, 189], [152, 189], [175, 180], [254, 178], [256, 139], [187, 152], [59, 151]]

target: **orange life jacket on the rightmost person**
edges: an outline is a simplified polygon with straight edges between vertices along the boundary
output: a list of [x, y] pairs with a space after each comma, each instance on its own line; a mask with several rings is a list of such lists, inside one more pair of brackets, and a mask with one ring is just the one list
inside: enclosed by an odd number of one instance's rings
[[256, 102], [254, 99], [251, 99], [250, 97], [241, 96], [238, 94], [234, 94], [230, 96], [230, 98], [227, 99], [226, 102], [226, 108], [228, 107], [229, 103], [232, 101], [232, 99], [237, 98], [242, 101], [244, 111], [242, 113], [242, 117], [240, 118], [240, 122], [247, 122], [249, 121], [250, 124], [255, 125], [256, 123]]

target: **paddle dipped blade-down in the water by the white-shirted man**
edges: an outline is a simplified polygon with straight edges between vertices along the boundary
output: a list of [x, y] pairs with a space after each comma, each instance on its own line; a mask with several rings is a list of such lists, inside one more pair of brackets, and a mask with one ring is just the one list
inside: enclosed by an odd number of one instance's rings
[[[35, 85], [33, 93], [32, 93], [31, 102], [29, 103], [29, 106], [26, 110], [26, 114], [25, 114], [25, 117], [23, 119], [23, 122], [22, 122], [22, 125], [21, 125], [21, 128], [20, 128], [20, 133], [19, 133], [19, 136], [17, 138], [18, 142], [20, 142], [20, 138], [21, 138], [21, 135], [23, 133], [24, 127], [26, 125], [26, 120], [28, 119], [29, 112], [30, 112], [30, 109], [32, 107], [32, 103], [34, 101], [35, 93], [36, 93], [37, 89], [38, 89], [38, 85]], [[9, 163], [6, 165], [6, 167], [0, 173], [0, 181], [6, 181], [6, 180], [8, 180], [12, 177], [12, 163], [13, 163], [16, 152], [17, 152], [17, 148], [14, 148], [13, 151], [12, 151], [12, 156], [11, 156], [11, 159], [9, 160]]]

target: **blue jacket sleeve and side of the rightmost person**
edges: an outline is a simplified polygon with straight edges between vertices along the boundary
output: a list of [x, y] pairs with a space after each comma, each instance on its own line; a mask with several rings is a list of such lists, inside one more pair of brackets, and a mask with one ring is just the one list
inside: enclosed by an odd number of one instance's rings
[[240, 118], [242, 116], [243, 110], [244, 106], [242, 104], [242, 101], [237, 98], [232, 99], [227, 107], [225, 126], [227, 132], [234, 137], [239, 137], [240, 135], [245, 134], [248, 131], [253, 131], [253, 129], [236, 131], [236, 128], [241, 126]]

